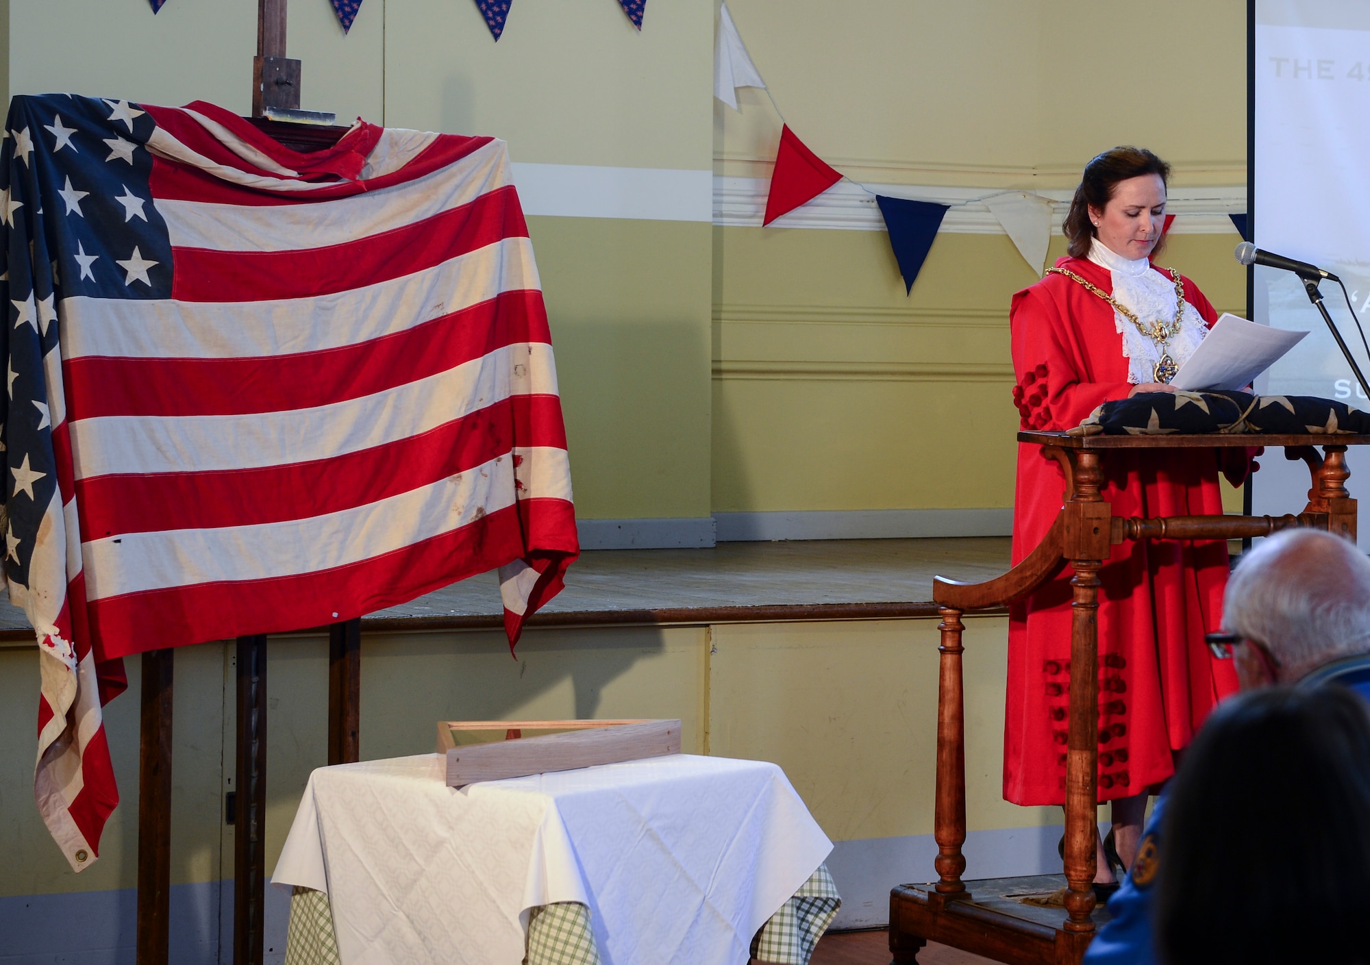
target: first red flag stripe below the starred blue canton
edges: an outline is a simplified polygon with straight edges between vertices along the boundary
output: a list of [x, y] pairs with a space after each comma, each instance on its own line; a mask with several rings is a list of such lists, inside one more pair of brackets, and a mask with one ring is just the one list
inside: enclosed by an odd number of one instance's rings
[[543, 293], [489, 302], [340, 348], [219, 359], [82, 356], [64, 363], [68, 419], [314, 408], [448, 371], [506, 345], [551, 343]]

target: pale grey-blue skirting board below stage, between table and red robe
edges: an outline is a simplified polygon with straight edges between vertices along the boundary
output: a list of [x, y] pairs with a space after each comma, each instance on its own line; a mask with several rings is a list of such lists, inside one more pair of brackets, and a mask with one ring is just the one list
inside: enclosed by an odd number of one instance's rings
[[[1107, 827], [1100, 825], [1104, 832]], [[1017, 877], [1018, 875], [1060, 875], [1056, 844], [1063, 827], [1006, 828], [971, 831], [966, 835], [966, 880]], [[937, 842], [932, 835], [907, 838], [866, 838], [836, 842], [827, 855], [843, 906], [832, 928], [880, 928], [889, 924], [889, 890], [896, 884], [936, 881], [933, 858]]]

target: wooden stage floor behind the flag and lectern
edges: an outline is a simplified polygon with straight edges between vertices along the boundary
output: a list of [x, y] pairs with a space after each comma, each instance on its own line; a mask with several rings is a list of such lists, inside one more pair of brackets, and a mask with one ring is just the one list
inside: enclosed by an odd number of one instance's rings
[[[543, 614], [707, 611], [859, 603], [932, 603], [933, 576], [988, 580], [1008, 569], [1007, 536], [962, 539], [719, 543], [707, 550], [592, 550]], [[369, 629], [433, 629], [464, 618], [493, 626], [501, 613], [493, 573], [369, 614]], [[373, 622], [374, 621], [374, 622]], [[473, 621], [474, 622], [474, 621]], [[0, 594], [0, 631], [27, 629]]]

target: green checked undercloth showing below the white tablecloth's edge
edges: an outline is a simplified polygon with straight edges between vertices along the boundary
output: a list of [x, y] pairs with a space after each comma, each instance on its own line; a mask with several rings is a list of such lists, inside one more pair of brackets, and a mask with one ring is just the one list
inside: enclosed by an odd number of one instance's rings
[[[752, 939], [752, 958], [774, 965], [808, 965], [814, 946], [841, 907], [827, 865], [819, 865]], [[333, 912], [322, 891], [295, 888], [285, 965], [338, 965]], [[523, 965], [600, 965], [590, 910], [558, 902], [529, 910]]]

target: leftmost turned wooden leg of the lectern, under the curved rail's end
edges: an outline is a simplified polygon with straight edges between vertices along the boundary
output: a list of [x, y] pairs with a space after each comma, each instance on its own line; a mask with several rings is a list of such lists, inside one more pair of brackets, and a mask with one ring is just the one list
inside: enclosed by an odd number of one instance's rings
[[[966, 626], [960, 610], [941, 607], [941, 654], [937, 679], [937, 810], [934, 838], [937, 859], [934, 866], [941, 879], [937, 891], [954, 896], [964, 895], [960, 880], [966, 870], [966, 698], [962, 683], [960, 636]], [[893, 939], [892, 939], [893, 940]]]

